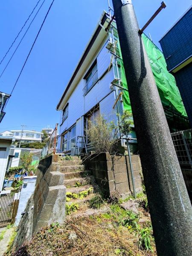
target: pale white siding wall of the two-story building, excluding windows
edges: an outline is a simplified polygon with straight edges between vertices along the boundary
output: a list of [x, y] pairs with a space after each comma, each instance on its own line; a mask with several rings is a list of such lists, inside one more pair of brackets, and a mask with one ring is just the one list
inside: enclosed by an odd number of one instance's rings
[[[111, 55], [108, 53], [106, 49], [106, 41], [102, 45], [102, 47], [98, 50], [97, 58], [97, 70], [98, 70], [98, 78], [100, 78], [106, 70], [108, 70]], [[83, 116], [85, 113], [90, 111], [96, 104], [99, 102], [100, 113], [104, 113], [106, 118], [109, 120], [116, 119], [115, 111], [113, 111], [113, 104], [115, 102], [114, 92], [111, 93], [110, 85], [114, 79], [113, 76], [113, 69], [105, 74], [101, 80], [99, 80], [93, 88], [84, 96], [84, 86], [85, 80], [83, 77], [89, 70], [92, 61], [90, 61], [89, 67], [84, 71], [82, 74], [82, 79], [79, 84], [76, 86], [75, 90], [73, 91], [72, 95], [68, 100], [69, 108], [68, 108], [68, 117], [67, 119], [61, 124], [62, 122], [62, 111], [60, 117], [60, 128], [59, 134], [61, 135], [64, 131], [69, 129], [72, 125], [76, 123], [76, 138], [77, 136], [81, 136], [84, 134], [84, 120]], [[110, 93], [110, 94], [109, 94]], [[109, 95], [108, 95], [109, 94]], [[105, 99], [103, 99], [106, 95], [108, 95]], [[81, 118], [81, 119], [80, 119]], [[58, 138], [58, 149], [61, 149], [61, 137]]]

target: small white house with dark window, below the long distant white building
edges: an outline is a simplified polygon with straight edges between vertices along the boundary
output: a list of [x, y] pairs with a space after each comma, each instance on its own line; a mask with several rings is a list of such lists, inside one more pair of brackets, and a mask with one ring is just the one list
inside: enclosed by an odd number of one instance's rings
[[21, 166], [20, 156], [26, 152], [30, 152], [31, 148], [10, 148], [10, 154], [13, 156], [10, 160], [9, 167]]

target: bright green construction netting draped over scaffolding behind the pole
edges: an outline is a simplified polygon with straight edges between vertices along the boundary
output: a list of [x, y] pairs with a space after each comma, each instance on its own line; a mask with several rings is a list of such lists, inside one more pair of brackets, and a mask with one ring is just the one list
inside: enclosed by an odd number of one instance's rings
[[[175, 78], [167, 70], [163, 53], [145, 34], [142, 35], [142, 38], [163, 106], [180, 113], [182, 116], [187, 116]], [[119, 53], [122, 58], [120, 49]], [[128, 89], [122, 60], [120, 61], [120, 66], [122, 86]], [[125, 110], [131, 112], [128, 91], [123, 92], [123, 106]]]

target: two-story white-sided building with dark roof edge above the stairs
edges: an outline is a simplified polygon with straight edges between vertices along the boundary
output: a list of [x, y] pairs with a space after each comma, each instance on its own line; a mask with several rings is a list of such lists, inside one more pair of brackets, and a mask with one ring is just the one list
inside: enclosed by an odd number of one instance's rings
[[[106, 120], [117, 122], [117, 113], [122, 113], [125, 106], [120, 101], [119, 105], [115, 104], [119, 90], [114, 86], [117, 77], [111, 61], [115, 53], [109, 51], [110, 35], [105, 30], [109, 21], [108, 14], [103, 12], [56, 107], [61, 111], [58, 137], [58, 150], [61, 152], [73, 155], [78, 136], [81, 142], [84, 136], [89, 147], [86, 137], [88, 120], [93, 120], [100, 113]], [[117, 32], [114, 36], [118, 40]], [[120, 64], [117, 70], [121, 73]], [[136, 137], [134, 131], [131, 136]], [[131, 142], [135, 143], [134, 140]], [[121, 140], [121, 145], [126, 147], [125, 140]]]

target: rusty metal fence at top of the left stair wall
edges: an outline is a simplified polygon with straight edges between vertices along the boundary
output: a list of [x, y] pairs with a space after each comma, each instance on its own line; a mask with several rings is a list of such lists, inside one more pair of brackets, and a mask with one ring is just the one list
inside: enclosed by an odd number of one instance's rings
[[55, 129], [50, 135], [46, 145], [44, 145], [44, 147], [42, 148], [41, 158], [47, 157], [51, 154], [55, 154], [56, 145], [57, 145], [57, 130], [58, 130], [58, 124], [56, 124]]

